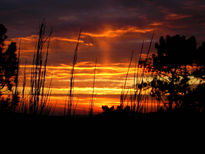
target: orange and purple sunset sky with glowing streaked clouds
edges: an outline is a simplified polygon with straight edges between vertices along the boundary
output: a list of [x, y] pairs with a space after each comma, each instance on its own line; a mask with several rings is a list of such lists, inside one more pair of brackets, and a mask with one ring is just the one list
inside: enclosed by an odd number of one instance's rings
[[[119, 101], [116, 95], [120, 94], [131, 52], [134, 50], [137, 58], [145, 40], [146, 53], [153, 32], [154, 42], [160, 36], [176, 34], [196, 36], [199, 44], [205, 41], [204, 0], [1, 0], [0, 23], [7, 27], [9, 41], [18, 44], [21, 39], [22, 67], [25, 61], [28, 65], [32, 61], [43, 19], [48, 30], [53, 29], [48, 60], [52, 93], [67, 94], [73, 52], [82, 29], [75, 92], [92, 92], [97, 58], [96, 102], [100, 105]], [[154, 45], [151, 51], [155, 51]]]

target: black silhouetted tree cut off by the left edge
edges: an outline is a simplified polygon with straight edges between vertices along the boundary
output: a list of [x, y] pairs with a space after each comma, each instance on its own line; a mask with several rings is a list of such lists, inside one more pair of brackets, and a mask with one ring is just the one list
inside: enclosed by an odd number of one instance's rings
[[[12, 92], [12, 87], [17, 83], [18, 77], [18, 58], [16, 55], [16, 43], [11, 42], [8, 48], [5, 46], [5, 40], [7, 29], [4, 25], [0, 24], [0, 110], [1, 109], [14, 109], [14, 104], [18, 101], [16, 95], [13, 97], [7, 97], [7, 99], [1, 98], [3, 94], [8, 95]], [[16, 105], [15, 105], [16, 106]]]

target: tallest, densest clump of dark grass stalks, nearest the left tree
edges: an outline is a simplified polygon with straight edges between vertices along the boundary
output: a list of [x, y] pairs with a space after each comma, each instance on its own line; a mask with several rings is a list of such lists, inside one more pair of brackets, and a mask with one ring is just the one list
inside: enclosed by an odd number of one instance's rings
[[[29, 112], [33, 114], [42, 114], [45, 111], [47, 99], [45, 99], [44, 88], [46, 80], [46, 66], [48, 60], [48, 49], [52, 31], [46, 36], [46, 25], [44, 22], [40, 25], [38, 33], [38, 41], [36, 51], [33, 55], [33, 67], [31, 69], [31, 89]], [[44, 46], [46, 45], [46, 55], [43, 54]], [[43, 61], [45, 56], [45, 60]]]

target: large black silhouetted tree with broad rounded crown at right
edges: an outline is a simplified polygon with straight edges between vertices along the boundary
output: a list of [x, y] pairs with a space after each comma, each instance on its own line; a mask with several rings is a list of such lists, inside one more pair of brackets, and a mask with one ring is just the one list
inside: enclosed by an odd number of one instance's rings
[[196, 53], [196, 39], [185, 36], [161, 37], [159, 43], [155, 44], [157, 53], [153, 54], [152, 71], [156, 76], [151, 82], [152, 96], [161, 99], [162, 96], [168, 98], [168, 109], [179, 107], [183, 102], [183, 97], [188, 93], [189, 76], [191, 73], [187, 66], [193, 64], [193, 56]]

